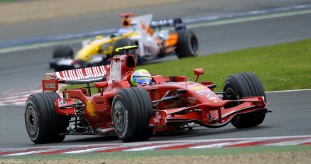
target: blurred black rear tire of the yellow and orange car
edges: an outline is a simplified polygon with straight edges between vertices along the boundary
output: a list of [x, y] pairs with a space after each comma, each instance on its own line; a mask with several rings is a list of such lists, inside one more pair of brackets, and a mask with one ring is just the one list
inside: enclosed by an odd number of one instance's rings
[[196, 57], [199, 53], [199, 42], [192, 31], [182, 30], [178, 32], [176, 55], [178, 58]]

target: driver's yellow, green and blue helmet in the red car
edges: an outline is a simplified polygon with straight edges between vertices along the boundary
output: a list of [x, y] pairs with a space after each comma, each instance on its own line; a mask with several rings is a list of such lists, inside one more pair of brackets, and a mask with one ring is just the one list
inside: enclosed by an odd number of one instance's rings
[[131, 75], [131, 84], [133, 86], [137, 86], [137, 84], [141, 85], [149, 85], [151, 84], [151, 75], [147, 70], [139, 69], [133, 72]]

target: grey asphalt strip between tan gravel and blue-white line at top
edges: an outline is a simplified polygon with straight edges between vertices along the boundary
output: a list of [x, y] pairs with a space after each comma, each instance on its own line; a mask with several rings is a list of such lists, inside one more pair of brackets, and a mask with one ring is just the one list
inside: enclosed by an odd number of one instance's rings
[[194, 18], [198, 16], [218, 16], [285, 6], [311, 4], [310, 0], [190, 0], [183, 3], [148, 6], [119, 11], [105, 11], [86, 15], [57, 18], [46, 21], [28, 21], [13, 25], [1, 25], [0, 42], [38, 38], [49, 35], [67, 35], [116, 28], [119, 14], [133, 12], [136, 15], [153, 13], [153, 18]]

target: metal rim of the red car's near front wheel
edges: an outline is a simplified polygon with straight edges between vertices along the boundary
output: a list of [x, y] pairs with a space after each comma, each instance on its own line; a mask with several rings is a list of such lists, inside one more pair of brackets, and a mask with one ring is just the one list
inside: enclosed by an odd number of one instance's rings
[[125, 110], [123, 104], [119, 101], [116, 102], [116, 104], [114, 104], [113, 116], [114, 116], [114, 127], [118, 131], [122, 131], [125, 125]]

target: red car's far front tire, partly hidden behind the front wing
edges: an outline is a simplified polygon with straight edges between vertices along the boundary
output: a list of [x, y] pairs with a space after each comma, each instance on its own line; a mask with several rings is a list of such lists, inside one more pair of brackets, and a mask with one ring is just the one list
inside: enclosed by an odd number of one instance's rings
[[[241, 99], [242, 97], [264, 97], [266, 102], [266, 94], [263, 86], [256, 77], [251, 72], [239, 73], [236, 75], [231, 75], [224, 82], [224, 94], [223, 99]], [[238, 103], [229, 104], [225, 108], [236, 106]], [[238, 129], [250, 128], [253, 126], [258, 126], [265, 119], [266, 110], [253, 111], [248, 114], [239, 114], [234, 116], [231, 120], [231, 124]]]

